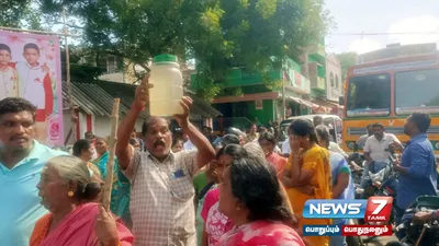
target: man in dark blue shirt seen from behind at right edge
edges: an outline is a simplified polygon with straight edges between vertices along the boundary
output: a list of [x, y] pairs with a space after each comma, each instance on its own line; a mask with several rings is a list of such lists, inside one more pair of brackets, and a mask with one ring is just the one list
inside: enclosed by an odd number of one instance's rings
[[[403, 150], [402, 160], [393, 162], [399, 173], [399, 185], [396, 191], [395, 223], [399, 224], [405, 209], [419, 196], [437, 196], [436, 159], [431, 142], [427, 138], [430, 116], [421, 113], [412, 114], [404, 125], [404, 133], [410, 141]], [[399, 145], [399, 149], [402, 147]], [[396, 236], [404, 237], [402, 232]]]

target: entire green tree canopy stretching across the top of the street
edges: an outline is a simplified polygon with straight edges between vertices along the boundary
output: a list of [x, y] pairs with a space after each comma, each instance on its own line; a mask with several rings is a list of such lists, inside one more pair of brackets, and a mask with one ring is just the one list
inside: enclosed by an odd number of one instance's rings
[[[195, 59], [203, 84], [196, 93], [205, 99], [219, 93], [230, 68], [266, 78], [281, 69], [282, 58], [299, 60], [302, 48], [319, 43], [330, 23], [323, 0], [3, 1], [9, 5], [0, 9], [11, 9], [4, 19], [10, 26], [19, 25], [13, 21], [30, 2], [41, 9], [41, 21], [61, 20], [64, 5], [70, 30], [80, 32], [77, 40], [85, 49], [146, 69], [150, 58], [162, 52]], [[29, 16], [31, 26], [37, 27], [38, 19]]]

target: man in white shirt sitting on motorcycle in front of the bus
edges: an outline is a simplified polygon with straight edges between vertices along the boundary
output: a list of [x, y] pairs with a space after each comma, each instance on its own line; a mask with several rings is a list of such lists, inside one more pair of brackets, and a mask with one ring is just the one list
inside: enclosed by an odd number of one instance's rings
[[391, 156], [390, 144], [399, 143], [399, 140], [392, 133], [384, 132], [384, 126], [381, 124], [372, 125], [373, 136], [369, 137], [364, 144], [365, 165], [360, 187], [364, 188], [370, 180], [369, 171], [378, 172], [386, 165]]

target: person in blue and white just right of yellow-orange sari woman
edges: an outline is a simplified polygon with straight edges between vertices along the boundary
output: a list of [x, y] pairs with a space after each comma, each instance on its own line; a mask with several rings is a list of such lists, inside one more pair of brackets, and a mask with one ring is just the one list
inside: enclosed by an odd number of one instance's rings
[[[329, 128], [324, 125], [319, 125], [315, 130], [317, 133], [318, 145], [328, 149], [330, 139]], [[329, 164], [333, 177], [333, 199], [353, 199], [353, 184], [350, 176], [348, 162], [340, 153], [329, 151]], [[344, 219], [334, 220], [334, 224], [338, 224], [340, 227], [346, 223], [347, 221]], [[338, 245], [346, 245], [346, 237], [331, 236], [329, 246]]]

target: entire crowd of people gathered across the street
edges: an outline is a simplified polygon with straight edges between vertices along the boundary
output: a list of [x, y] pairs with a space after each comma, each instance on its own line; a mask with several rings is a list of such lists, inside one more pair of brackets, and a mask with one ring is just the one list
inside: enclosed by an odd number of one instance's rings
[[[306, 200], [352, 199], [354, 192], [346, 153], [322, 120], [294, 120], [286, 147], [279, 149], [275, 132], [257, 132], [256, 125], [247, 134], [232, 130], [214, 138], [209, 128], [200, 131], [189, 120], [192, 99], [183, 97], [184, 113], [175, 116], [182, 139], [172, 138], [168, 119], [154, 116], [139, 138], [134, 127], [148, 106], [148, 87], [144, 80], [136, 89], [119, 127], [110, 211], [100, 203], [108, 137], [87, 132], [71, 155], [52, 150], [34, 139], [34, 105], [19, 97], [0, 101], [1, 245], [345, 244], [342, 236], [302, 235], [302, 225], [347, 223], [303, 218]], [[402, 151], [393, 164], [401, 174], [401, 210], [417, 196], [436, 196], [429, 124], [425, 114], [407, 118], [412, 139], [405, 149], [382, 125], [364, 142], [368, 165], [389, 157], [390, 147]]]

